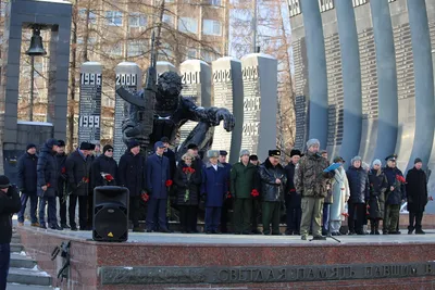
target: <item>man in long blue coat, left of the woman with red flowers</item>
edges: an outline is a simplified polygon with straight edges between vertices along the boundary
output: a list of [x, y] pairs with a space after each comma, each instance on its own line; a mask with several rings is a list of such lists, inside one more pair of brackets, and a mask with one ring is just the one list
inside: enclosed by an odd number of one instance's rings
[[163, 155], [164, 150], [165, 146], [162, 141], [156, 142], [156, 153], [147, 160], [147, 189], [150, 196], [147, 212], [148, 232], [156, 229], [157, 223], [159, 223], [160, 232], [170, 232], [166, 224], [166, 206], [172, 179], [170, 160]]

